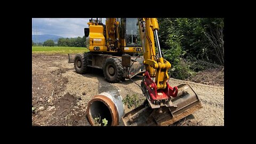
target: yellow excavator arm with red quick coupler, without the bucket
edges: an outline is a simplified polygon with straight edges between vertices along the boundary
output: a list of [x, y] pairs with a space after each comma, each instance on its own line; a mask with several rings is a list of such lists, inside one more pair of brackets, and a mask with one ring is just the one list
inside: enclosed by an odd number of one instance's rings
[[[171, 63], [163, 58], [159, 44], [157, 31], [159, 30], [156, 18], [139, 18], [140, 35], [142, 41], [144, 65], [146, 73], [143, 74], [141, 86], [144, 93], [148, 93], [150, 103], [153, 108], [161, 105], [169, 105], [171, 97], [176, 97], [178, 87], [171, 87], [167, 82], [169, 79], [168, 70]], [[158, 55], [155, 52], [155, 43]], [[155, 81], [151, 78], [155, 77]]]

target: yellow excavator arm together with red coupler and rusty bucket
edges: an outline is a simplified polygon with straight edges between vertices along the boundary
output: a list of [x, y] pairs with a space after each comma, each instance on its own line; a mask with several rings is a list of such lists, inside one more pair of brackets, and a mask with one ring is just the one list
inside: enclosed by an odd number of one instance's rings
[[[124, 125], [171, 125], [201, 109], [197, 94], [188, 84], [171, 87], [168, 70], [171, 63], [163, 58], [156, 18], [138, 18], [146, 72], [141, 88], [145, 102], [122, 117]], [[155, 44], [158, 54], [155, 52]], [[155, 81], [153, 81], [155, 77]]]

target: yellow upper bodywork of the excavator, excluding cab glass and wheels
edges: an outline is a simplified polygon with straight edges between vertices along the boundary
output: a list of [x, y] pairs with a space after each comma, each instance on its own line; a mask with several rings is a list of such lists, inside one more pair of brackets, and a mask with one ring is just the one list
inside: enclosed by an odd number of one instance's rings
[[[87, 24], [90, 31], [87, 37], [87, 49], [92, 52], [139, 53], [142, 51], [141, 46], [127, 46], [125, 38], [120, 36], [121, 26], [117, 18], [107, 18], [106, 25], [98, 20], [91, 20]], [[123, 31], [123, 35], [124, 33]]]

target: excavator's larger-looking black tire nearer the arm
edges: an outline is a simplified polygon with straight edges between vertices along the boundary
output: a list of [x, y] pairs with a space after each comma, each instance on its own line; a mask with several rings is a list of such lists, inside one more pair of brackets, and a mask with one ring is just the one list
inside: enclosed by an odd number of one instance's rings
[[117, 58], [108, 58], [103, 65], [103, 73], [109, 83], [120, 82], [124, 76], [121, 60]]

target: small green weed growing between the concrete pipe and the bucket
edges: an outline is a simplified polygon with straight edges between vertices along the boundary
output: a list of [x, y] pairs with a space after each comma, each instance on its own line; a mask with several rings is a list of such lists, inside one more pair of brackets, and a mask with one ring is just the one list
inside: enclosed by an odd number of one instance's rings
[[144, 100], [145, 99], [138, 98], [137, 94], [127, 94], [126, 97], [123, 99], [123, 103], [127, 105], [128, 108], [131, 108], [132, 106], [138, 107], [140, 103]]

